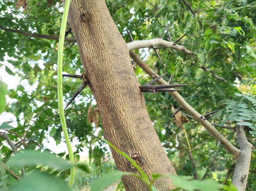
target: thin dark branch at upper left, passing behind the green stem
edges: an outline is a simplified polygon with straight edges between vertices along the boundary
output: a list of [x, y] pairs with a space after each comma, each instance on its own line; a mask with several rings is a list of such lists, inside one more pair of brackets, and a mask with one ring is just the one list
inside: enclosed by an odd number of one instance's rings
[[[12, 33], [21, 34], [21, 35], [24, 35], [24, 36], [59, 40], [59, 36], [48, 35], [48, 34], [39, 34], [39, 33], [30, 33], [30, 32], [21, 31], [21, 30], [18, 30], [18, 29], [7, 29], [7, 28], [3, 27], [2, 25], [0, 25], [0, 29], [3, 29], [3, 30], [8, 31], [8, 32], [12, 32]], [[73, 42], [74, 40], [75, 40], [75, 38], [68, 38], [68, 37], [65, 38], [65, 41], [67, 41], [67, 42]]]

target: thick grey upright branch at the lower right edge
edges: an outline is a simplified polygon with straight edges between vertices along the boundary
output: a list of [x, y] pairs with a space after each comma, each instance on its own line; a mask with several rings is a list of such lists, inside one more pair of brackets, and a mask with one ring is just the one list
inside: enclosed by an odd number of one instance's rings
[[252, 144], [247, 141], [244, 126], [235, 128], [236, 137], [242, 153], [236, 160], [232, 184], [238, 191], [245, 191], [251, 162]]

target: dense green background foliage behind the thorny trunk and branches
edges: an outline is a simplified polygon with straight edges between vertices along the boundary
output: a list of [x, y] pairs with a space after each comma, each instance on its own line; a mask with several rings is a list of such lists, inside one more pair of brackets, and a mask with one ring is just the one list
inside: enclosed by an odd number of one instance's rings
[[[21, 1], [19, 1], [21, 2]], [[126, 42], [130, 39], [126, 27], [134, 40], [168, 38], [168, 32], [175, 41], [180, 36], [179, 44], [194, 52], [187, 56], [173, 49], [158, 49], [163, 63], [160, 62], [153, 49], [142, 49], [137, 53], [142, 55], [147, 64], [159, 74], [168, 72], [164, 78], [168, 81], [172, 73], [171, 83], [191, 84], [184, 87], [180, 93], [198, 112], [205, 115], [216, 109], [221, 109], [208, 120], [213, 124], [233, 127], [242, 122], [247, 126], [247, 138], [255, 143], [256, 132], [256, 2], [254, 0], [218, 0], [218, 1], [188, 1], [193, 13], [183, 0], [106, 0], [112, 18]], [[24, 149], [41, 148], [43, 139], [48, 135], [58, 144], [62, 137], [62, 128], [58, 116], [57, 103], [57, 40], [24, 36], [5, 29], [19, 29], [29, 33], [59, 35], [63, 3], [57, 0], [28, 0], [24, 8], [17, 8], [17, 2], [3, 0], [0, 4], [0, 61], [7, 60], [14, 69], [5, 62], [0, 67], [10, 75], [20, 78], [21, 83], [15, 89], [6, 91], [5, 83], [0, 82], [0, 112], [4, 107], [4, 94], [7, 92], [13, 101], [7, 103], [5, 112], [16, 117], [17, 127], [8, 123], [0, 126], [1, 132], [6, 129], [17, 133], [27, 143], [27, 148], [21, 139], [8, 133], [12, 142], [17, 143], [18, 152]], [[201, 23], [201, 24], [200, 24]], [[67, 28], [68, 29], [68, 28]], [[166, 30], [167, 29], [167, 30]], [[167, 32], [168, 31], [168, 32]], [[69, 37], [72, 37], [69, 35]], [[77, 45], [69, 48], [72, 42], [64, 45], [63, 71], [68, 74], [83, 72]], [[5, 56], [7, 55], [7, 56]], [[149, 76], [137, 65], [135, 73], [141, 84], [149, 82]], [[210, 69], [210, 71], [206, 71]], [[2, 76], [5, 79], [5, 76]], [[64, 101], [67, 103], [80, 87], [79, 79], [64, 77]], [[178, 175], [195, 173], [188, 146], [181, 127], [170, 119], [174, 108], [179, 105], [168, 93], [144, 94], [146, 106], [160, 141], [165, 146], [169, 159], [174, 164]], [[94, 166], [97, 173], [105, 171], [105, 160], [110, 150], [105, 142], [99, 141], [95, 135], [102, 127], [98, 117], [97, 106], [89, 88], [82, 93], [65, 110], [70, 138], [77, 137], [75, 159], [79, 161], [79, 151], [89, 148], [89, 165]], [[96, 117], [97, 116], [97, 117]], [[209, 135], [209, 133], [183, 112], [183, 127], [187, 131], [192, 155], [197, 166], [199, 179], [207, 173], [206, 179], [216, 180], [220, 184], [231, 184], [231, 175], [235, 160], [226, 150]], [[235, 146], [238, 144], [234, 131], [216, 126]], [[104, 135], [100, 130], [98, 137]], [[0, 137], [0, 146], [5, 140]], [[6, 144], [5, 144], [6, 145]], [[7, 163], [13, 157], [13, 151], [2, 145], [0, 152], [2, 162]], [[58, 153], [60, 157], [64, 153]], [[217, 155], [215, 160], [213, 157]], [[69, 158], [67, 155], [66, 158]], [[37, 165], [28, 166], [26, 172], [40, 168]], [[20, 176], [21, 171], [12, 169]], [[50, 172], [50, 170], [46, 169]], [[252, 152], [252, 160], [248, 185], [256, 190], [256, 152]], [[7, 173], [7, 171], [6, 171]], [[55, 174], [58, 174], [59, 171]], [[8, 173], [7, 173], [8, 174]], [[66, 179], [69, 171], [58, 174]], [[11, 175], [2, 177], [2, 185], [17, 184]]]

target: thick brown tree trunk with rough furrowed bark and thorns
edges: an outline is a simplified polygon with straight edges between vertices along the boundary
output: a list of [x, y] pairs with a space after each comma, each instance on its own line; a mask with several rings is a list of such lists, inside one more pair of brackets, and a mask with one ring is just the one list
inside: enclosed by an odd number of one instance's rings
[[[153, 173], [176, 174], [146, 110], [134, 74], [128, 48], [115, 26], [104, 0], [71, 1], [69, 24], [73, 29], [89, 86], [97, 101], [105, 137], [121, 151], [137, 156], [151, 178]], [[121, 171], [136, 172], [124, 157], [112, 150]], [[134, 177], [124, 177], [126, 191], [147, 191]], [[154, 186], [174, 189], [162, 178]]]

